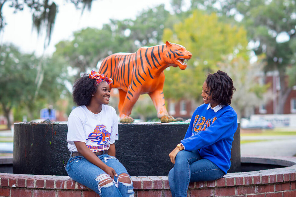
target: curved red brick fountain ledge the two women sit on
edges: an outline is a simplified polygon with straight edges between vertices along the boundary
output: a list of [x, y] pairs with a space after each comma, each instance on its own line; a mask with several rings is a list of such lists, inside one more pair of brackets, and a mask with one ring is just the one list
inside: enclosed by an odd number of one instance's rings
[[[243, 156], [242, 162], [288, 167], [228, 173], [215, 181], [190, 183], [195, 196], [295, 197], [296, 157]], [[168, 176], [133, 176], [135, 196], [171, 196]], [[0, 173], [0, 196], [99, 196], [69, 176]]]

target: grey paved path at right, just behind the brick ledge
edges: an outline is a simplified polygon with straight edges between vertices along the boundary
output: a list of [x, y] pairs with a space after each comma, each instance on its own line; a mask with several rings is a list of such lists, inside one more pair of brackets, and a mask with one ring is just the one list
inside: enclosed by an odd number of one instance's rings
[[241, 154], [262, 156], [294, 156], [296, 154], [296, 135], [243, 136], [241, 140], [267, 140], [240, 145]]

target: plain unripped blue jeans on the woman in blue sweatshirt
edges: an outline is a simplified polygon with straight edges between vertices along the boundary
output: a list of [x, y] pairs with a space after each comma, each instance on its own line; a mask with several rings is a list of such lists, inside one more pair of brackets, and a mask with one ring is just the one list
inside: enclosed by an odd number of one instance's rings
[[224, 174], [213, 162], [202, 159], [198, 151], [179, 151], [169, 171], [172, 197], [186, 197], [189, 182], [216, 180]]

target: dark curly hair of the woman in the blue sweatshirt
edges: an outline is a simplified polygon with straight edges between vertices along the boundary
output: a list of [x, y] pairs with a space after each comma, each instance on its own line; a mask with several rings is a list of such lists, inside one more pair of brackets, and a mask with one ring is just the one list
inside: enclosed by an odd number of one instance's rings
[[211, 95], [212, 100], [222, 106], [231, 104], [233, 91], [236, 89], [226, 72], [218, 70], [214, 74], [209, 74], [206, 83], [210, 88], [209, 95]]

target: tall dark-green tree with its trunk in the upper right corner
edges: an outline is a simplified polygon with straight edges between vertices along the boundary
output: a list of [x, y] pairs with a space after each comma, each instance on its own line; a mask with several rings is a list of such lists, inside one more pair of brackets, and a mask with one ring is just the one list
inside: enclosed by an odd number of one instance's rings
[[[280, 78], [280, 98], [275, 113], [283, 113], [285, 101], [292, 90], [286, 78], [287, 68], [295, 66], [296, 57], [296, 5], [294, 0], [243, 1], [193, 0], [198, 7], [215, 10], [226, 17], [242, 17], [241, 23], [254, 43], [256, 55], [266, 54], [264, 70], [276, 70]], [[216, 4], [216, 6], [214, 6]], [[217, 6], [219, 5], [219, 6]], [[291, 73], [288, 73], [291, 75]], [[294, 72], [294, 76], [295, 72]], [[291, 76], [291, 78], [294, 78]]]

